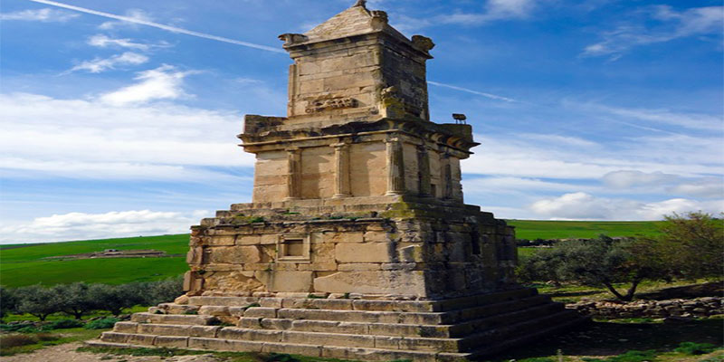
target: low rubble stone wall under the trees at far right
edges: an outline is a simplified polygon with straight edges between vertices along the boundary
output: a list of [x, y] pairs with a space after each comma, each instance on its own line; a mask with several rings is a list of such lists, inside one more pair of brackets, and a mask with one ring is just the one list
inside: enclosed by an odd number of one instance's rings
[[631, 302], [584, 300], [566, 308], [600, 319], [709, 317], [724, 314], [721, 297], [694, 300], [635, 300]]

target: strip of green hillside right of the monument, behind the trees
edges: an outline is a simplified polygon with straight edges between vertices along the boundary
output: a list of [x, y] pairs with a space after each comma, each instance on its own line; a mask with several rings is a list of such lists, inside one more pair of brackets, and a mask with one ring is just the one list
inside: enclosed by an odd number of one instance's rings
[[601, 233], [608, 236], [653, 235], [657, 224], [653, 221], [540, 221], [508, 220], [515, 226], [519, 239], [593, 238]]

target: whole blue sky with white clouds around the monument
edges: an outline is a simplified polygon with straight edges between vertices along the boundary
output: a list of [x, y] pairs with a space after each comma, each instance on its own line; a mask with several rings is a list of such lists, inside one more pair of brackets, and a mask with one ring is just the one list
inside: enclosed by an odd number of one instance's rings
[[[286, 112], [277, 35], [352, 3], [4, 0], [0, 243], [185, 233], [249, 202], [235, 135], [243, 114]], [[462, 166], [468, 204], [528, 219], [724, 209], [720, 1], [368, 7], [437, 43], [433, 120], [466, 113], [482, 143]]]

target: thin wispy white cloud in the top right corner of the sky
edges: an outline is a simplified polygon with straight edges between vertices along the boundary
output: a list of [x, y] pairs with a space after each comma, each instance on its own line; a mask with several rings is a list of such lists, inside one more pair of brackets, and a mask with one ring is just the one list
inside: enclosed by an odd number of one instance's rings
[[636, 46], [696, 35], [720, 36], [724, 24], [724, 6], [693, 7], [677, 12], [671, 6], [656, 5], [647, 7], [645, 11], [647, 19], [639, 24], [619, 25], [602, 33], [604, 40], [586, 46], [582, 55], [611, 55], [612, 60], [616, 60]]

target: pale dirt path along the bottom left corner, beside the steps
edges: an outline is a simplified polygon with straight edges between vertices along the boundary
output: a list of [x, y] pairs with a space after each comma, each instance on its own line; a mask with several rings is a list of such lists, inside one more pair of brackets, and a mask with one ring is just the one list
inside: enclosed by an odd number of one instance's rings
[[15, 356], [0, 357], [0, 362], [221, 362], [211, 355], [200, 356], [116, 356], [104, 353], [76, 352], [81, 342], [67, 343], [38, 349], [33, 353], [22, 353]]

